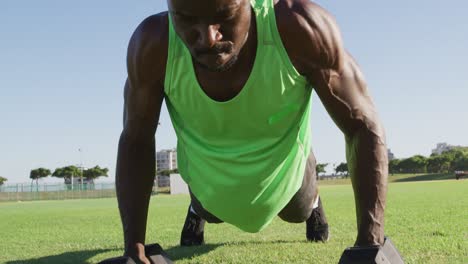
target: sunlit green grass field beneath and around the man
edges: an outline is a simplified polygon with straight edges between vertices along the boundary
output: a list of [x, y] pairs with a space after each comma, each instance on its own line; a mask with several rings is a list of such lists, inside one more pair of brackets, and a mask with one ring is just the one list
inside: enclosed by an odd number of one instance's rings
[[[305, 224], [279, 219], [249, 234], [207, 225], [207, 245], [178, 247], [188, 196], [152, 198], [147, 242], [177, 263], [337, 263], [356, 236], [350, 185], [325, 185], [328, 243], [307, 243]], [[386, 234], [406, 263], [468, 263], [468, 180], [389, 184]], [[114, 199], [0, 203], [0, 263], [97, 263], [122, 254]]]

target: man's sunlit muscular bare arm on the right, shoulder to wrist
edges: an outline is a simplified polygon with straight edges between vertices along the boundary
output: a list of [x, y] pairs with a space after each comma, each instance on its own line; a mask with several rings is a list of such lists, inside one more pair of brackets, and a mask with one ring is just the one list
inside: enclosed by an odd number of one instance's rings
[[334, 19], [319, 6], [283, 0], [275, 11], [293, 64], [307, 76], [344, 133], [356, 203], [356, 245], [383, 244], [387, 148], [359, 66], [344, 50]]

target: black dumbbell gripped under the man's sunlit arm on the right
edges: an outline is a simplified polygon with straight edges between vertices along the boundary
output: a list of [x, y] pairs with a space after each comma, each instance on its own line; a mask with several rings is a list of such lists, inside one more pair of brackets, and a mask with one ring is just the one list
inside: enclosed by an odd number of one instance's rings
[[341, 255], [339, 264], [403, 264], [404, 261], [389, 238], [382, 246], [349, 247]]

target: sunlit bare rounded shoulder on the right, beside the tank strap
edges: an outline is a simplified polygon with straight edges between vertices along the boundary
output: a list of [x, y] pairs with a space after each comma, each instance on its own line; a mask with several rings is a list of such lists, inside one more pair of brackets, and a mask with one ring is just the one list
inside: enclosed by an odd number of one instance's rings
[[342, 68], [341, 33], [327, 10], [309, 0], [278, 0], [275, 15], [283, 45], [301, 74]]

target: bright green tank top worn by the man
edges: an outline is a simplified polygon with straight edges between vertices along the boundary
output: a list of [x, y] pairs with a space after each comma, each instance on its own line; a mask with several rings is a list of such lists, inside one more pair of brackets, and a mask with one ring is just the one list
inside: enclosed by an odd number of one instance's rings
[[218, 102], [202, 90], [171, 19], [164, 91], [182, 178], [211, 214], [258, 232], [301, 187], [312, 88], [281, 42], [273, 0], [252, 0], [252, 7], [257, 53], [239, 94]]

